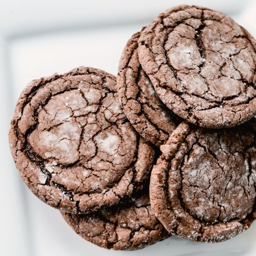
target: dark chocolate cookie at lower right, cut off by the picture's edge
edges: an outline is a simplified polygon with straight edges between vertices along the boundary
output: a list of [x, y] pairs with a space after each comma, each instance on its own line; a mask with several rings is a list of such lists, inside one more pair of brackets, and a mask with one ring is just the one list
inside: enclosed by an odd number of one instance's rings
[[222, 130], [182, 122], [161, 146], [150, 202], [175, 235], [220, 242], [256, 217], [256, 120]]

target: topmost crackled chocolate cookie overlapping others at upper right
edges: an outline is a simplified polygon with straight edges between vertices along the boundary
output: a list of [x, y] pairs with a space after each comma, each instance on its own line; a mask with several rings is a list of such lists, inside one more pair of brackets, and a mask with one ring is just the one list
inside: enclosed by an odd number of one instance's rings
[[207, 128], [256, 115], [256, 40], [229, 16], [182, 5], [142, 32], [139, 61], [175, 114]]

